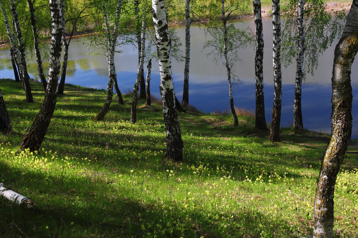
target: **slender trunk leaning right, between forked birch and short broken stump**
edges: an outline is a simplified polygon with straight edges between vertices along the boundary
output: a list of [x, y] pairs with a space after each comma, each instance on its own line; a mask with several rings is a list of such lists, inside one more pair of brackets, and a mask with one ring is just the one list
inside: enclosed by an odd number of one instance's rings
[[142, 21], [142, 30], [141, 30], [141, 52], [140, 52], [140, 60], [139, 60], [139, 66], [138, 66], [138, 71], [137, 71], [137, 80], [134, 84], [134, 88], [133, 88], [133, 98], [132, 98], [132, 105], [131, 105], [131, 123], [136, 123], [137, 121], [137, 95], [138, 95], [138, 90], [139, 90], [139, 84], [141, 81], [141, 77], [142, 77], [142, 71], [143, 71], [143, 65], [144, 65], [144, 52], [145, 52], [145, 28], [146, 26], [146, 21], [145, 21], [146, 15], [145, 13], [143, 13], [143, 21]]

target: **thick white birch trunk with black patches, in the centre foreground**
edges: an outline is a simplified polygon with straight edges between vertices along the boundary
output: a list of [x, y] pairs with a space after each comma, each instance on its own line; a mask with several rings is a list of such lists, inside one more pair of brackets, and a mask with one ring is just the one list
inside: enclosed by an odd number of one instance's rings
[[183, 160], [183, 141], [180, 133], [178, 115], [175, 108], [175, 92], [171, 74], [168, 22], [164, 9], [164, 0], [152, 0], [153, 21], [157, 52], [159, 59], [160, 95], [163, 103], [164, 124], [166, 132], [165, 157], [175, 161]]

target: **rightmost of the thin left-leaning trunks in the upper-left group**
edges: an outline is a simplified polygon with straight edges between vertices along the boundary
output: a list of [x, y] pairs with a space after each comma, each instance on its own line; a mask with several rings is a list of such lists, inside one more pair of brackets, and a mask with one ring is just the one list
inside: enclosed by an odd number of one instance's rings
[[32, 26], [33, 36], [34, 36], [34, 49], [35, 49], [35, 55], [36, 55], [37, 70], [39, 72], [39, 77], [40, 77], [42, 86], [44, 87], [44, 90], [46, 91], [47, 81], [45, 78], [44, 69], [42, 67], [42, 59], [41, 59], [41, 53], [40, 53], [40, 49], [39, 49], [39, 36], [37, 34], [37, 26], [36, 26], [36, 19], [35, 19], [35, 9], [34, 9], [32, 0], [27, 0], [27, 3], [29, 5], [31, 26]]

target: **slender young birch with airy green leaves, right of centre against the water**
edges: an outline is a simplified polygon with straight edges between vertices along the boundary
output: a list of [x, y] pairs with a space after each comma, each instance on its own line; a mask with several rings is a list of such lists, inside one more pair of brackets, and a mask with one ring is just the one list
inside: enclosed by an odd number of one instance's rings
[[[221, 7], [219, 7], [219, 2], [221, 3]], [[232, 12], [245, 6], [245, 2], [228, 1], [226, 4], [226, 0], [220, 0], [215, 3], [217, 4], [211, 6], [211, 21], [206, 27], [207, 34], [212, 37], [212, 40], [205, 42], [204, 49], [212, 48], [207, 55], [213, 55], [214, 61], [218, 62], [219, 60], [222, 60], [225, 65], [229, 85], [230, 110], [234, 119], [234, 126], [238, 126], [238, 119], [232, 96], [232, 84], [233, 81], [238, 81], [239, 77], [234, 74], [234, 67], [235, 63], [240, 60], [238, 49], [251, 46], [254, 41], [254, 35], [250, 28], [239, 30], [235, 28], [233, 23], [228, 24]], [[221, 9], [221, 15], [217, 14], [217, 9]]]

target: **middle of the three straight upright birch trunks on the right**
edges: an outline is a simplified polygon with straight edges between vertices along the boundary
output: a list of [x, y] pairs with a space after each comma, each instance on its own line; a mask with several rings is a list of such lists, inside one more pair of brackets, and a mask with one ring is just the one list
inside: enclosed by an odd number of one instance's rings
[[272, 0], [272, 25], [274, 28], [274, 105], [272, 107], [271, 131], [269, 140], [280, 141], [281, 120], [281, 26], [280, 26], [280, 0]]

